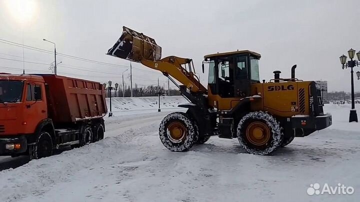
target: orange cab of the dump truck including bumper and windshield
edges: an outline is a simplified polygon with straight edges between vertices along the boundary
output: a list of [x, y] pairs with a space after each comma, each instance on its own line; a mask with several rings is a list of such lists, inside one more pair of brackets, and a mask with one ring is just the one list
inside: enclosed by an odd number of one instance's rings
[[47, 118], [44, 91], [41, 76], [0, 74], [0, 153], [26, 151], [26, 136]]

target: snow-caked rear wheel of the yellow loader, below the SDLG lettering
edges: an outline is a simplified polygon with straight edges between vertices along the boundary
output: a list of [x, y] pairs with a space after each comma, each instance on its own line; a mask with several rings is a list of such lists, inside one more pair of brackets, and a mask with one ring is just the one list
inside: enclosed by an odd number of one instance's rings
[[265, 112], [250, 112], [237, 125], [237, 139], [246, 152], [268, 155], [280, 147], [283, 133], [279, 122]]

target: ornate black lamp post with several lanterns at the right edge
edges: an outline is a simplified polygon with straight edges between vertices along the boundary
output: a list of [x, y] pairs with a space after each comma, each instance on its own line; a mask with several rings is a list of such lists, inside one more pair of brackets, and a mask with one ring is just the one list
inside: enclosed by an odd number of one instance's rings
[[[354, 49], [350, 49], [347, 51], [348, 56], [350, 58], [349, 61], [346, 62], [346, 56], [345, 55], [341, 55], [340, 56], [340, 62], [342, 64], [342, 69], [350, 67], [351, 68], [351, 110], [350, 110], [350, 115], [349, 115], [349, 122], [357, 122], [357, 114], [356, 114], [356, 110], [355, 110], [355, 96], [354, 96], [354, 87], [353, 87], [353, 67], [357, 67], [360, 62], [358, 62], [357, 60], [353, 60], [352, 58], [355, 55], [355, 50]], [[356, 53], [357, 59], [360, 60], [360, 51], [358, 51]], [[357, 75], [357, 73], [356, 73]]]

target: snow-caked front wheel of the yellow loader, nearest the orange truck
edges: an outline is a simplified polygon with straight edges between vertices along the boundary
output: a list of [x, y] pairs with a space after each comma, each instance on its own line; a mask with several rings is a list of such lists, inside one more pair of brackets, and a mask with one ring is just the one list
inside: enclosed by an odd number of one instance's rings
[[159, 127], [162, 144], [170, 151], [184, 152], [197, 141], [194, 123], [185, 113], [173, 112], [162, 119]]

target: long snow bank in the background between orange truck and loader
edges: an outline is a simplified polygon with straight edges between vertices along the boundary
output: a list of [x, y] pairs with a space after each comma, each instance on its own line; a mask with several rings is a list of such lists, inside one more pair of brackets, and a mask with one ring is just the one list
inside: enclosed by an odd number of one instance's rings
[[[109, 98], [106, 98], [107, 108], [110, 107]], [[160, 96], [161, 109], [174, 109], [177, 105], [188, 103], [182, 96]], [[138, 111], [158, 109], [158, 97], [114, 97], [111, 98], [112, 112]]]

